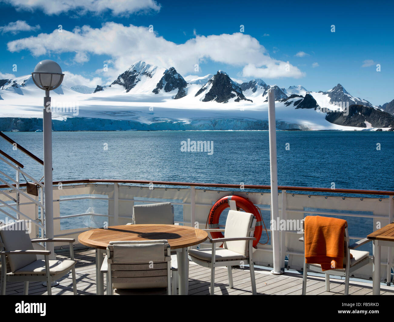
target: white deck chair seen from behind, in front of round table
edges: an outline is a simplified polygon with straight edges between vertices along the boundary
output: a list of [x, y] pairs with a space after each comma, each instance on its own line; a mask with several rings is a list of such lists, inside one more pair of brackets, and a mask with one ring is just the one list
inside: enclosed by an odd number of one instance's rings
[[166, 240], [111, 241], [101, 267], [107, 274], [107, 295], [113, 289], [167, 287], [171, 295], [170, 245]]

